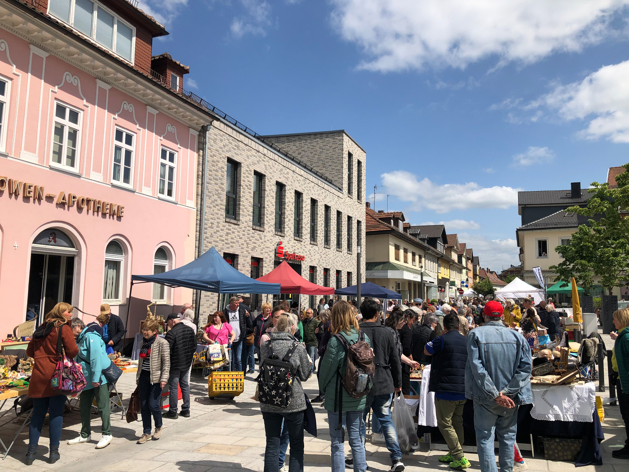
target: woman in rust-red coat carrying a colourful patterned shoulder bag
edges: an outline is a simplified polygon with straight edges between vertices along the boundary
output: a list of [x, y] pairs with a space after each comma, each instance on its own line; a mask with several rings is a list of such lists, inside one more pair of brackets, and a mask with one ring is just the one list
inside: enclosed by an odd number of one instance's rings
[[33, 398], [33, 417], [28, 431], [28, 452], [26, 465], [31, 465], [37, 454], [37, 446], [42, 434], [43, 420], [49, 413], [48, 430], [50, 434], [50, 457], [48, 463], [54, 464], [60, 458], [59, 439], [64, 425], [65, 395], [50, 386], [57, 366], [57, 340], [59, 330], [66, 357], [79, 354], [79, 348], [74, 340], [69, 321], [72, 318], [72, 305], [57, 303], [46, 315], [42, 323], [33, 333], [33, 339], [28, 343], [26, 355], [35, 359], [33, 374], [28, 386], [28, 396]]

